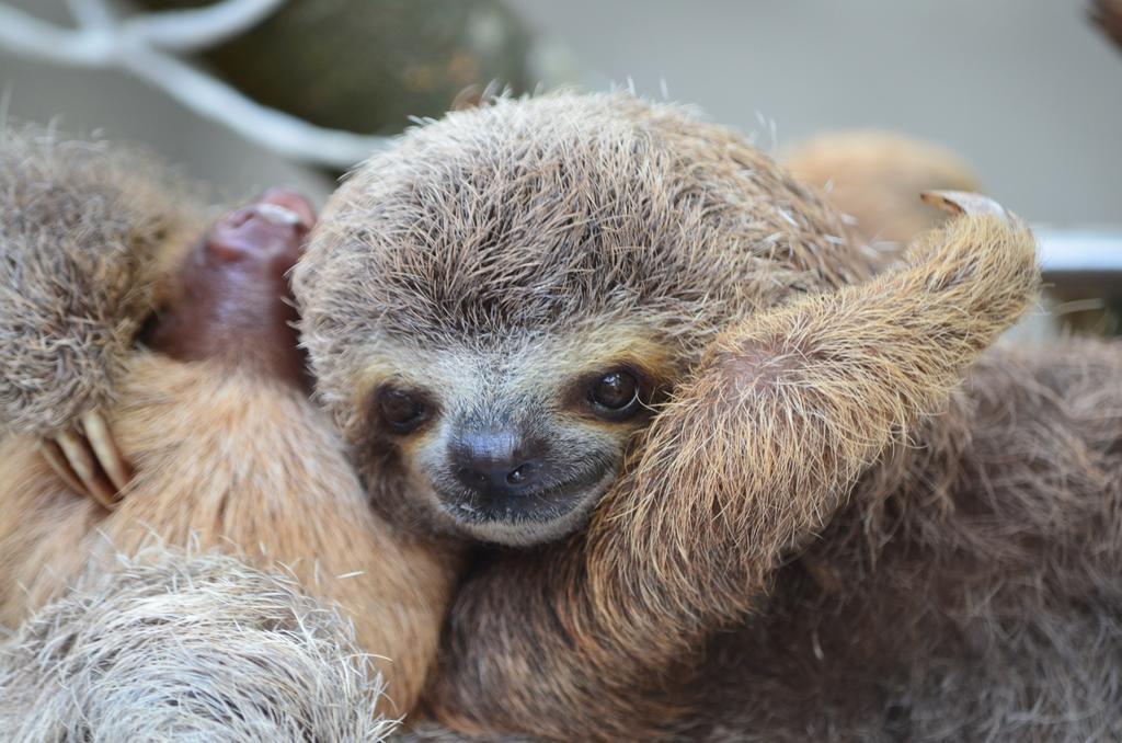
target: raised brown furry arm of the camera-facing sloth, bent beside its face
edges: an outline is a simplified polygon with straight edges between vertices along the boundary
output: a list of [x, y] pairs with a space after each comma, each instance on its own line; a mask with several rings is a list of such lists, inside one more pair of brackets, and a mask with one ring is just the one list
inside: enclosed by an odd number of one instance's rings
[[[910, 267], [733, 327], [660, 412], [587, 533], [458, 591], [430, 712], [469, 734], [665, 734], [689, 659], [760, 605], [893, 441], [1031, 301], [1031, 233], [992, 202]], [[683, 660], [684, 659], [684, 660]]]

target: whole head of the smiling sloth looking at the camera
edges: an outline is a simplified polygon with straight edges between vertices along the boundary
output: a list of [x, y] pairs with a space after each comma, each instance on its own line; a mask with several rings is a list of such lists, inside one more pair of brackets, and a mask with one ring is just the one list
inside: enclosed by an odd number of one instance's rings
[[716, 332], [868, 265], [732, 132], [559, 94], [449, 114], [375, 156], [294, 288], [375, 504], [532, 544], [585, 523]]

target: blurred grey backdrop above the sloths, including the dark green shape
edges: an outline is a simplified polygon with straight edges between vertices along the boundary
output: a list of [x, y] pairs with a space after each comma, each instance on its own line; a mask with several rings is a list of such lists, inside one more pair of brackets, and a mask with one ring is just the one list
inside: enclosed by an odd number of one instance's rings
[[[116, 18], [214, 4], [111, 3]], [[1118, 327], [1101, 310], [1122, 294], [1122, 46], [1111, 38], [1113, 29], [1122, 42], [1122, 0], [264, 4], [279, 8], [177, 57], [249, 99], [332, 129], [393, 135], [411, 116], [471, 104], [487, 85], [578, 84], [697, 104], [776, 155], [846, 129], [937, 143], [968, 163], [987, 193], [1046, 228], [1061, 302], [1083, 302], [1075, 309], [1092, 310], [1097, 329]], [[102, 3], [0, 6], [73, 27], [75, 18], [95, 20]], [[7, 46], [0, 43], [7, 117], [146, 143], [213, 184], [215, 198], [288, 183], [322, 200], [341, 169], [280, 156], [112, 65], [59, 66]]]

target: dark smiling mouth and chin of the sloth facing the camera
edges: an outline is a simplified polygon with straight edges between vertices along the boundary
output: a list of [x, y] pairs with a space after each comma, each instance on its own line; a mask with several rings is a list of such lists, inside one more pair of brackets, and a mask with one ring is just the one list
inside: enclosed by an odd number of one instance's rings
[[576, 477], [516, 496], [485, 499], [467, 490], [438, 490], [441, 508], [456, 522], [488, 541], [527, 544], [570, 533], [616, 478], [614, 467], [597, 467]]

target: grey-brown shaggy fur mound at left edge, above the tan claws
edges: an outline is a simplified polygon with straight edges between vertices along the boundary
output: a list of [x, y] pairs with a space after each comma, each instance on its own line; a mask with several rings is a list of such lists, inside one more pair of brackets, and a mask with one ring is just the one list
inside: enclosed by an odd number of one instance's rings
[[49, 434], [108, 405], [156, 275], [204, 222], [135, 152], [0, 128], [0, 426]]

